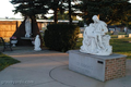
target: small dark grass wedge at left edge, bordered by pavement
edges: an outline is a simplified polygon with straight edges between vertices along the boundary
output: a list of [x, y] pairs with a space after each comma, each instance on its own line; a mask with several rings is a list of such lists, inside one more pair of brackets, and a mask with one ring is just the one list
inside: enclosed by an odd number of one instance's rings
[[0, 71], [15, 63], [20, 63], [20, 61], [0, 52]]

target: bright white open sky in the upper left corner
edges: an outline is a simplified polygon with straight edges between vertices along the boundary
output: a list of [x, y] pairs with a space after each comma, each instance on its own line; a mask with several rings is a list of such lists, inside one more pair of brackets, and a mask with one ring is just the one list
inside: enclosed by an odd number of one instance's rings
[[21, 13], [14, 15], [14, 13], [12, 12], [12, 10], [14, 10], [14, 7], [9, 1], [10, 0], [0, 0], [0, 17], [22, 18]]

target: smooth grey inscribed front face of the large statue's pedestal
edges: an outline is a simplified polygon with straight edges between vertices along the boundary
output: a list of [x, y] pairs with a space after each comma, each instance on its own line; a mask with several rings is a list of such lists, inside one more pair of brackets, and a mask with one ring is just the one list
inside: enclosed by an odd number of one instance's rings
[[[105, 73], [105, 62], [103, 60], [75, 53], [69, 54], [69, 58], [70, 70], [104, 80], [105, 77], [103, 74]], [[103, 62], [103, 64], [98, 63], [98, 61]]]

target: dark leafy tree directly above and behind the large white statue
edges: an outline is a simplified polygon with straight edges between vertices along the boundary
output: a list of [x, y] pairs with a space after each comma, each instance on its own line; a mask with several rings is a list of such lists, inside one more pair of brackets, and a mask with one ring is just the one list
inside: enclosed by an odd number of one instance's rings
[[108, 24], [122, 21], [127, 14], [131, 14], [129, 0], [82, 0], [81, 10], [87, 24], [93, 15], [99, 15], [100, 20]]

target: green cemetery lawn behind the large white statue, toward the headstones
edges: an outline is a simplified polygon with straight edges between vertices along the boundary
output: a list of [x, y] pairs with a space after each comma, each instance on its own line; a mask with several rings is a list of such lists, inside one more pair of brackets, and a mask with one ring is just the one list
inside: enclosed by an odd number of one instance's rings
[[[83, 38], [79, 38], [75, 49], [80, 49]], [[120, 53], [127, 55], [127, 59], [131, 59], [131, 38], [118, 39], [116, 36], [111, 36], [110, 46], [112, 46], [114, 53]]]

